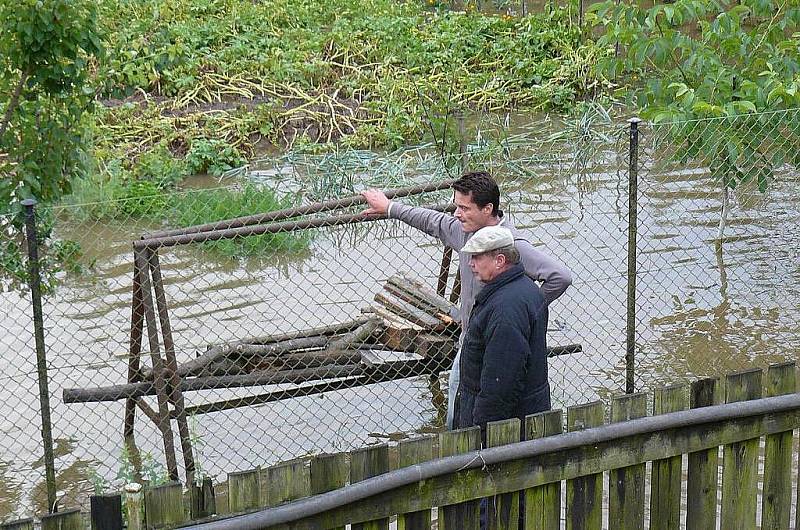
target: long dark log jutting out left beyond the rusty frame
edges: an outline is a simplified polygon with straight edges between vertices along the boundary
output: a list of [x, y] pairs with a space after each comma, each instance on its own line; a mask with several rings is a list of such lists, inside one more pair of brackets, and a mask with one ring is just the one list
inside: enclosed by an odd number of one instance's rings
[[[183, 379], [181, 392], [212, 390], [218, 388], [239, 388], [246, 386], [276, 385], [282, 383], [303, 383], [315, 379], [332, 377], [352, 377], [364, 373], [360, 365], [324, 366], [307, 370], [284, 370], [280, 372], [263, 371], [247, 375], [209, 376]], [[97, 388], [65, 388], [65, 403], [87, 403], [95, 401], [116, 401], [129, 397], [152, 396], [155, 388], [150, 382], [111, 385]]]

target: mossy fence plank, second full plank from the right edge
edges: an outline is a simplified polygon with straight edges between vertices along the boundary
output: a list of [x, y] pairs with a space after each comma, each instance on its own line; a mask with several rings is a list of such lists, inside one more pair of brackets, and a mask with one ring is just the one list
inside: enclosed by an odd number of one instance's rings
[[[761, 397], [761, 370], [728, 374], [725, 402]], [[735, 442], [722, 448], [722, 517], [726, 530], [756, 527], [758, 485], [758, 438]]]

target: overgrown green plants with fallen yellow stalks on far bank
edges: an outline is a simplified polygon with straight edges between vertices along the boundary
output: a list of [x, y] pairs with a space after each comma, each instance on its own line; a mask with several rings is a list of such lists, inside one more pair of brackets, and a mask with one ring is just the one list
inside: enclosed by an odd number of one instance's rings
[[238, 156], [205, 142], [246, 157], [264, 141], [304, 138], [397, 147], [426, 135], [424, 108], [437, 101], [561, 110], [596, 80], [597, 48], [581, 46], [566, 10], [512, 18], [396, 0], [99, 6], [110, 50], [103, 93], [130, 97], [98, 113], [106, 160], [178, 142], [196, 151], [193, 167], [220, 173]]

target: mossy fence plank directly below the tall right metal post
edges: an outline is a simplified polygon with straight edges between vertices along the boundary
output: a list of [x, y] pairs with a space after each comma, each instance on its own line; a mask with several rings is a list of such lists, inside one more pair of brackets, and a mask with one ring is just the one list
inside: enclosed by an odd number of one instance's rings
[[[647, 395], [626, 394], [611, 401], [611, 422], [647, 416]], [[645, 464], [636, 464], [608, 473], [608, 520], [620, 530], [644, 528]], [[554, 527], [551, 527], [554, 528]]]

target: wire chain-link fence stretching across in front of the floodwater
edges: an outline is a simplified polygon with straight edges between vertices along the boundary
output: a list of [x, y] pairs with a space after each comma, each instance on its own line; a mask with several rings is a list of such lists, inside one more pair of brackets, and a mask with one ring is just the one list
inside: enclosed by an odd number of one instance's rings
[[[518, 127], [462, 146], [469, 167], [497, 176], [515, 226], [573, 273], [550, 308], [554, 407], [626, 388], [631, 175], [635, 389], [797, 352], [798, 179], [795, 161], [774, 154], [797, 145], [797, 121], [756, 117], [749, 135], [724, 120], [639, 124], [637, 171], [628, 123]], [[706, 137], [718, 144], [692, 151]], [[744, 178], [755, 155], [740, 150], [720, 245], [719, 159], [705, 155], [750, 137], [771, 173], [766, 187]], [[436, 188], [454, 176], [442, 160], [431, 147], [286, 155], [254, 162], [233, 185], [198, 178], [179, 192], [47, 210], [84, 268], [59, 273], [44, 299], [60, 503], [138, 477], [221, 480], [441, 429], [459, 287], [457, 255], [438, 240], [396, 220], [354, 220], [363, 205], [169, 230], [370, 186]], [[440, 187], [397, 200], [444, 208], [452, 192]], [[0, 510], [19, 514], [44, 507], [41, 419], [30, 297], [2, 297]]]

